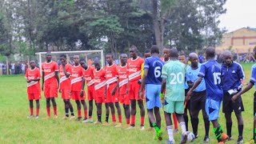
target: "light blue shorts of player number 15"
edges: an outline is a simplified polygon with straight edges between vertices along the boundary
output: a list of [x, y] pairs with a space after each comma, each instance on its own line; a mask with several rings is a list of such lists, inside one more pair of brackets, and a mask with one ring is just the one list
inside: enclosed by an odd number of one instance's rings
[[218, 113], [221, 109], [222, 101], [215, 101], [210, 98], [206, 98], [206, 114], [209, 117], [209, 121], [218, 119]]

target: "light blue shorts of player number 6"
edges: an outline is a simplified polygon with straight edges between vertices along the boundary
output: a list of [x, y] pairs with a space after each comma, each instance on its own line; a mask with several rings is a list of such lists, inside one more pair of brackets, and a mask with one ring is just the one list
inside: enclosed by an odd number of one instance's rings
[[146, 84], [146, 108], [154, 109], [154, 107], [161, 107], [160, 101], [161, 85]]

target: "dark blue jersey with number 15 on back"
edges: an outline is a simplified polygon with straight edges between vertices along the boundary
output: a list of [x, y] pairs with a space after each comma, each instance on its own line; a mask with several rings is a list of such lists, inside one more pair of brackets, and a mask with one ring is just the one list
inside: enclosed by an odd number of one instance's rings
[[221, 86], [221, 66], [215, 60], [202, 64], [198, 77], [205, 78], [206, 98], [222, 101], [223, 90]]

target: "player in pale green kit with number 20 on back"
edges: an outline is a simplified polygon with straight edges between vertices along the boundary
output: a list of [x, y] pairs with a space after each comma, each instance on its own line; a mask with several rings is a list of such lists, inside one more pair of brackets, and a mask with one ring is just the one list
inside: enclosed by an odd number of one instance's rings
[[[181, 143], [186, 143], [186, 124], [184, 122], [184, 100], [185, 100], [185, 67], [186, 65], [178, 61], [178, 50], [170, 49], [170, 61], [162, 67], [161, 100], [166, 118], [166, 129], [169, 140], [167, 143], [174, 143], [174, 132], [171, 121], [171, 114], [175, 113], [182, 129]], [[166, 90], [166, 94], [163, 91]]]

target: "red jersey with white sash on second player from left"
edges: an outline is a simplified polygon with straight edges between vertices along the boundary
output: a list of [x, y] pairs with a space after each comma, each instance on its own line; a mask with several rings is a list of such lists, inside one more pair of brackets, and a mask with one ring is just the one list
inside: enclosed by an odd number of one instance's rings
[[42, 71], [45, 73], [44, 85], [47, 86], [56, 82], [56, 86], [57, 86], [57, 79], [55, 77], [55, 71], [58, 71], [57, 62], [54, 62], [54, 61], [50, 61], [49, 63], [43, 62]]

